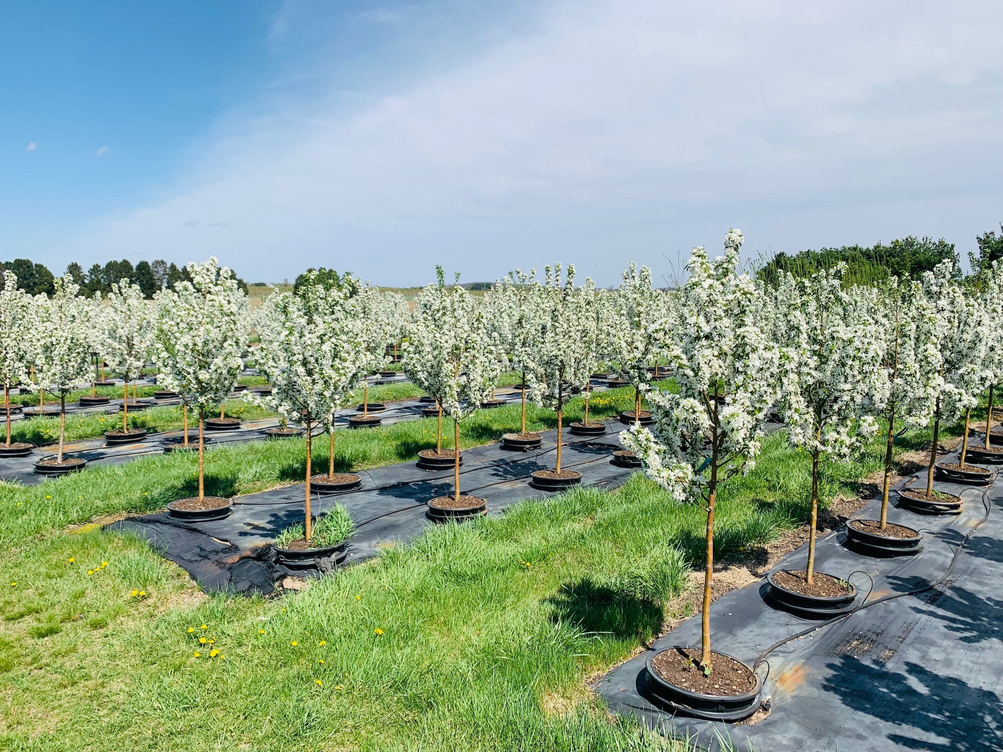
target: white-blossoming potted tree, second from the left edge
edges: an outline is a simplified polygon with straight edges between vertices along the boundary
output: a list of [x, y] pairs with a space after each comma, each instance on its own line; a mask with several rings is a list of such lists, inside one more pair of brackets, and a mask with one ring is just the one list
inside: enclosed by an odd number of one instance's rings
[[36, 387], [59, 396], [59, 448], [55, 457], [35, 463], [35, 472], [60, 475], [81, 469], [87, 460], [63, 456], [66, 438], [66, 395], [90, 371], [91, 321], [79, 287], [66, 275], [57, 277], [51, 297], [36, 296], [38, 330], [36, 347]]

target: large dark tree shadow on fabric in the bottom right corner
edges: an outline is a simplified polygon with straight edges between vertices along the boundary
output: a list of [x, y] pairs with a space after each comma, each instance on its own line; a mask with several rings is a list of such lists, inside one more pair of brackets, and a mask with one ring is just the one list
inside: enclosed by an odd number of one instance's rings
[[824, 692], [849, 708], [891, 723], [902, 733], [889, 741], [932, 752], [997, 752], [1003, 749], [1003, 698], [960, 679], [914, 663], [898, 671], [853, 656], [827, 664]]

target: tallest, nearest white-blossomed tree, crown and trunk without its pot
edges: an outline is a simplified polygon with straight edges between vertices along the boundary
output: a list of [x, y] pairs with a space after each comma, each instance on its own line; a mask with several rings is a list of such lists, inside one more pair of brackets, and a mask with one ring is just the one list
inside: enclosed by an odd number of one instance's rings
[[651, 429], [620, 434], [641, 458], [646, 474], [679, 502], [707, 512], [700, 666], [711, 670], [710, 596], [714, 575], [714, 511], [720, 485], [755, 464], [769, 406], [776, 397], [778, 353], [758, 326], [757, 289], [739, 273], [742, 235], [725, 236], [724, 256], [702, 247], [687, 263], [673, 320], [660, 325], [663, 346], [676, 364], [679, 392], [651, 395]]

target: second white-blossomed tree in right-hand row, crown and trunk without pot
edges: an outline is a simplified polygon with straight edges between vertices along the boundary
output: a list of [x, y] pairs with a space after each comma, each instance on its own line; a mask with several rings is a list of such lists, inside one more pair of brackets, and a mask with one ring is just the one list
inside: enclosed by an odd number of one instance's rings
[[775, 295], [784, 319], [781, 411], [790, 443], [811, 456], [811, 516], [805, 581], [814, 584], [818, 477], [878, 430], [869, 412], [885, 380], [877, 291], [843, 289], [845, 265], [804, 279], [785, 273]]

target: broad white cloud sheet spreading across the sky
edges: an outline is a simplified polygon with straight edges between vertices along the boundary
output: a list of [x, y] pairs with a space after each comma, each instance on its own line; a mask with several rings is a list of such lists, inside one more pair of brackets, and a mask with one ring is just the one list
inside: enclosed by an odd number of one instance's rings
[[80, 245], [255, 278], [560, 257], [610, 281], [729, 226], [790, 250], [998, 222], [999, 4], [607, 0], [534, 28], [351, 112], [337, 91], [222, 133], [173, 198]]

